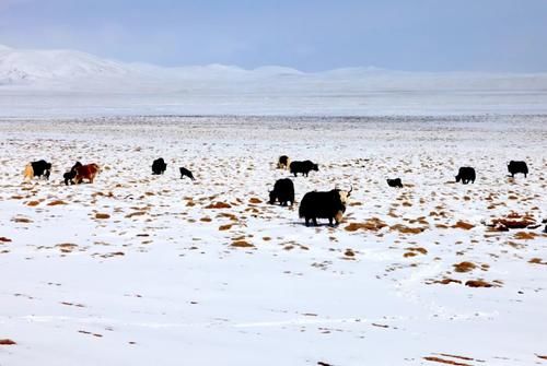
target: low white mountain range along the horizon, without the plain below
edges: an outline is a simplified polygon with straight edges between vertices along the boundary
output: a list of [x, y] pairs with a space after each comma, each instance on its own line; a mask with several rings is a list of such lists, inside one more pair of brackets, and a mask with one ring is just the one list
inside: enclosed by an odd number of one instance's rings
[[163, 68], [125, 63], [74, 50], [0, 45], [0, 87], [94, 92], [334, 93], [362, 91], [546, 91], [547, 74], [404, 72], [346, 68], [306, 73], [267, 66], [246, 70], [209, 64]]

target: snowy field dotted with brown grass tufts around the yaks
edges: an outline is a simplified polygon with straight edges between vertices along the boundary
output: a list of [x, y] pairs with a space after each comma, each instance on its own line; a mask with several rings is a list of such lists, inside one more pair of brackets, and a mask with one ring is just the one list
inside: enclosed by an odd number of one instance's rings
[[[1, 366], [547, 363], [545, 116], [3, 119], [0, 147]], [[353, 187], [338, 227], [267, 204], [281, 154], [319, 164], [296, 201]]]

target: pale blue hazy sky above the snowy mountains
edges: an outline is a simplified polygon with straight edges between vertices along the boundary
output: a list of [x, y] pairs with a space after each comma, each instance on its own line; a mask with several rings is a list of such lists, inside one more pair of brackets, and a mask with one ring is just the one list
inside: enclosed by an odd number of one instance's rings
[[0, 44], [163, 66], [547, 71], [547, 0], [0, 0]]

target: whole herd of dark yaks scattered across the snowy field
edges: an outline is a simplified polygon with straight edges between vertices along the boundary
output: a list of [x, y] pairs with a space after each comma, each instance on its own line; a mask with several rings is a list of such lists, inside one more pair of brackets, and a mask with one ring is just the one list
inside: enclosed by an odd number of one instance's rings
[[[282, 155], [278, 160], [277, 167], [279, 169], [288, 169], [294, 177], [298, 174], [307, 177], [310, 172], [318, 172], [318, 165], [311, 161], [294, 161], [287, 155]], [[152, 174], [162, 175], [165, 173], [167, 164], [163, 158], [158, 158], [152, 163]], [[512, 177], [515, 174], [524, 174], [524, 177], [528, 174], [528, 167], [525, 162], [511, 161], [508, 163], [508, 170]], [[101, 172], [97, 164], [86, 164], [83, 165], [77, 162], [70, 170], [63, 174], [65, 185], [79, 185], [83, 180], [88, 180], [92, 184], [96, 175]], [[190, 180], [195, 180], [194, 175], [190, 170], [185, 167], [179, 167], [181, 179], [187, 177]], [[44, 160], [28, 163], [24, 169], [24, 178], [32, 179], [33, 177], [49, 179], [51, 174], [51, 163], [47, 163]], [[462, 184], [467, 185], [468, 182], [474, 184], [476, 179], [475, 168], [469, 166], [464, 166], [458, 169], [456, 182], [462, 181]], [[387, 179], [387, 185], [394, 188], [403, 188], [403, 182], [400, 178]], [[299, 206], [299, 216], [304, 219], [305, 225], [309, 226], [313, 223], [317, 226], [317, 219], [328, 220], [329, 225], [338, 225], [346, 212], [346, 204], [348, 198], [351, 194], [353, 188], [349, 190], [340, 190], [335, 188], [330, 191], [311, 191], [304, 194]], [[279, 179], [274, 185], [274, 190], [269, 192], [269, 203], [275, 204], [279, 202], [280, 205], [292, 205], [294, 203], [294, 184], [289, 178]]]

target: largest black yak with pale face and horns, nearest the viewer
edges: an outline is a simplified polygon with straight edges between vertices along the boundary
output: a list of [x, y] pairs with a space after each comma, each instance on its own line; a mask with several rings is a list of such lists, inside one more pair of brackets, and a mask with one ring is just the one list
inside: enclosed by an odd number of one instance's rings
[[338, 225], [346, 212], [346, 202], [353, 188], [349, 191], [333, 189], [326, 192], [305, 193], [300, 202], [300, 219], [305, 219], [306, 226], [310, 226], [310, 221], [317, 226], [317, 219], [328, 219], [330, 226], [333, 226], [333, 221]]

